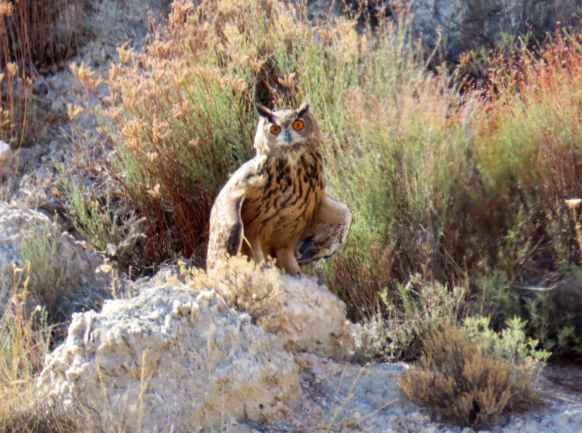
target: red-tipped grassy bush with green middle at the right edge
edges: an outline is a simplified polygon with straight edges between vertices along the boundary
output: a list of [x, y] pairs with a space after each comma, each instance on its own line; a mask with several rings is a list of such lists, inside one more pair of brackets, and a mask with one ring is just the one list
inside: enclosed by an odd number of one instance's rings
[[[492, 204], [495, 224], [513, 230], [530, 257], [515, 263], [514, 271], [557, 271], [580, 262], [564, 200], [582, 197], [581, 40], [580, 34], [559, 32], [538, 51], [522, 48], [510, 59], [492, 61], [475, 152], [484, 190], [499, 197], [485, 206]], [[516, 251], [500, 253], [510, 262], [517, 259]]]

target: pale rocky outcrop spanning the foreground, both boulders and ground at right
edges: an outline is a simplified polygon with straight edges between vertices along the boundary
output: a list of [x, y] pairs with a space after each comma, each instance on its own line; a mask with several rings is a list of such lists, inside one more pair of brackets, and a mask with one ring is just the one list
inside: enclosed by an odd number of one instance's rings
[[[139, 283], [132, 299], [74, 314], [38, 386], [102, 432], [474, 432], [406, 399], [397, 386], [406, 364], [329, 359], [345, 356], [354, 328], [345, 323], [345, 306], [314, 279], [278, 277], [281, 311], [269, 333], [228, 307], [228, 292], [200, 292], [182, 276], [166, 269]], [[543, 386], [552, 390], [542, 395], [546, 406], [491, 431], [579, 431], [579, 397], [558, 399], [555, 385]]]

